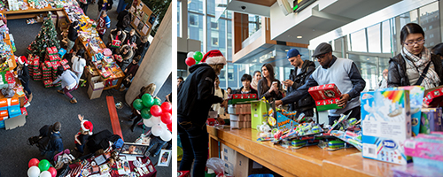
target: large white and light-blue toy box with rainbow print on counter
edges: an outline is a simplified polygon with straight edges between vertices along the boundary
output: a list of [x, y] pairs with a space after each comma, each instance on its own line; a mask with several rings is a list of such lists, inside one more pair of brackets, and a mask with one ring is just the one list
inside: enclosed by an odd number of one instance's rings
[[406, 165], [403, 143], [411, 137], [409, 90], [361, 93], [362, 156]]

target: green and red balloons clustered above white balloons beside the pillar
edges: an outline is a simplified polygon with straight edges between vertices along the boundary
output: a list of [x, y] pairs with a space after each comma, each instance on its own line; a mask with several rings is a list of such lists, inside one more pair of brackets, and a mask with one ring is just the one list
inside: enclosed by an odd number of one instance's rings
[[142, 118], [150, 119], [152, 116], [160, 117], [166, 125], [172, 123], [172, 105], [169, 102], [161, 104], [159, 98], [154, 98], [150, 94], [144, 94], [142, 99], [136, 99], [132, 106], [138, 111]]

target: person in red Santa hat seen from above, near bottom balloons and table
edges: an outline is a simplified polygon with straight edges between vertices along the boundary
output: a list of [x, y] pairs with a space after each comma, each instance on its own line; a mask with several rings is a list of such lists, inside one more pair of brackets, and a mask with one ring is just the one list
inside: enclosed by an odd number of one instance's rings
[[94, 128], [94, 126], [92, 126], [92, 123], [87, 120], [87, 119], [83, 119], [83, 116], [79, 114], [79, 119], [80, 119], [80, 130], [79, 132], [74, 135], [74, 140], [75, 140], [75, 148], [74, 150], [77, 150], [78, 152], [80, 152], [80, 155], [83, 154], [83, 148], [84, 145], [86, 144], [86, 141], [88, 140], [89, 135], [92, 135], [92, 129]]

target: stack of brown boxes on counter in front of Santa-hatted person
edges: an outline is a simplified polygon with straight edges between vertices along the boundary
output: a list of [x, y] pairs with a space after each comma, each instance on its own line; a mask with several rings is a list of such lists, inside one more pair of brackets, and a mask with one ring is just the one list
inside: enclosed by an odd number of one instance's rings
[[228, 112], [230, 127], [251, 127], [251, 104], [230, 104]]

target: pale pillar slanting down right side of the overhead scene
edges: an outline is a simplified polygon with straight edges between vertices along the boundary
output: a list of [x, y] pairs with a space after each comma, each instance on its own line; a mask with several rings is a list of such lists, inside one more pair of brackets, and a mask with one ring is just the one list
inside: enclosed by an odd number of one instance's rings
[[[176, 23], [174, 23], [176, 24]], [[175, 34], [176, 35], [176, 34]], [[175, 36], [176, 37], [176, 36]], [[150, 83], [157, 86], [154, 95], [167, 76], [172, 72], [172, 3], [169, 4], [165, 17], [161, 21], [157, 34], [146, 51], [144, 59], [138, 68], [136, 76], [132, 81], [126, 93], [126, 103], [132, 104], [132, 101], [140, 93], [140, 89]]]

